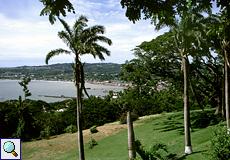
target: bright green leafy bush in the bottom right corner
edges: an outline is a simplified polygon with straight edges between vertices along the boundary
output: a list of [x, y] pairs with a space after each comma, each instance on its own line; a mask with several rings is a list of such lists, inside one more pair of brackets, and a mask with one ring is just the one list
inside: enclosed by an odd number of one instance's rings
[[230, 159], [230, 134], [226, 126], [214, 128], [214, 138], [211, 140], [210, 149], [204, 153], [210, 159], [225, 160]]

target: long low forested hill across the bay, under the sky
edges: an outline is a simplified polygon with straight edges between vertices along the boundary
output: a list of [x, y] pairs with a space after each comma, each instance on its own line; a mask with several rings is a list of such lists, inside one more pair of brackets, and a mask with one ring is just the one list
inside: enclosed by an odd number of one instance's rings
[[[85, 78], [89, 81], [119, 80], [121, 64], [116, 63], [86, 63]], [[72, 80], [71, 63], [44, 66], [21, 66], [15, 68], [0, 68], [0, 79], [21, 79], [31, 77], [36, 80]]]

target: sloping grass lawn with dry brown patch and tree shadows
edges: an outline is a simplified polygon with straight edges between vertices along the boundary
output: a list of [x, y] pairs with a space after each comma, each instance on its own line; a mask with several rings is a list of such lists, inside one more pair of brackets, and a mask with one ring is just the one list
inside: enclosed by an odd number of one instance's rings
[[[191, 121], [196, 122], [196, 112], [191, 112]], [[214, 112], [213, 110], [211, 112]], [[162, 115], [141, 117], [134, 123], [135, 138], [139, 139], [145, 149], [155, 142], [164, 142], [169, 153], [176, 159], [205, 160], [203, 152], [208, 149], [213, 138], [213, 126], [200, 127], [198, 122], [192, 125], [193, 154], [184, 154], [183, 113], [166, 113]], [[98, 127], [99, 132], [91, 134], [85, 130], [85, 158], [89, 160], [128, 160], [128, 142], [126, 125], [118, 122]], [[89, 149], [87, 143], [95, 139], [98, 142]], [[49, 140], [39, 140], [22, 143], [22, 159], [78, 159], [77, 133], [62, 134]], [[140, 159], [138, 155], [138, 159]]]

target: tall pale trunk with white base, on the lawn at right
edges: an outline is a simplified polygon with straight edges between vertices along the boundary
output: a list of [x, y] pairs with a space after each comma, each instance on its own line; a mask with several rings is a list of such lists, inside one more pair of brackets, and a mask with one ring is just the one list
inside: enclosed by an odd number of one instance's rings
[[185, 132], [185, 154], [192, 153], [191, 137], [190, 137], [190, 113], [189, 113], [189, 99], [188, 99], [188, 66], [187, 57], [182, 57], [183, 71], [184, 71], [184, 132]]

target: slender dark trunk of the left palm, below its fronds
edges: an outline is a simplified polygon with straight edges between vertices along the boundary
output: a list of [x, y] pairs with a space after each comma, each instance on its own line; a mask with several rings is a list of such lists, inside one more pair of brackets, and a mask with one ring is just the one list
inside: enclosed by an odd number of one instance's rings
[[84, 155], [84, 142], [82, 133], [82, 93], [80, 90], [80, 66], [76, 58], [76, 68], [75, 68], [75, 85], [77, 89], [77, 129], [78, 129], [78, 150], [79, 150], [79, 160], [85, 160]]

